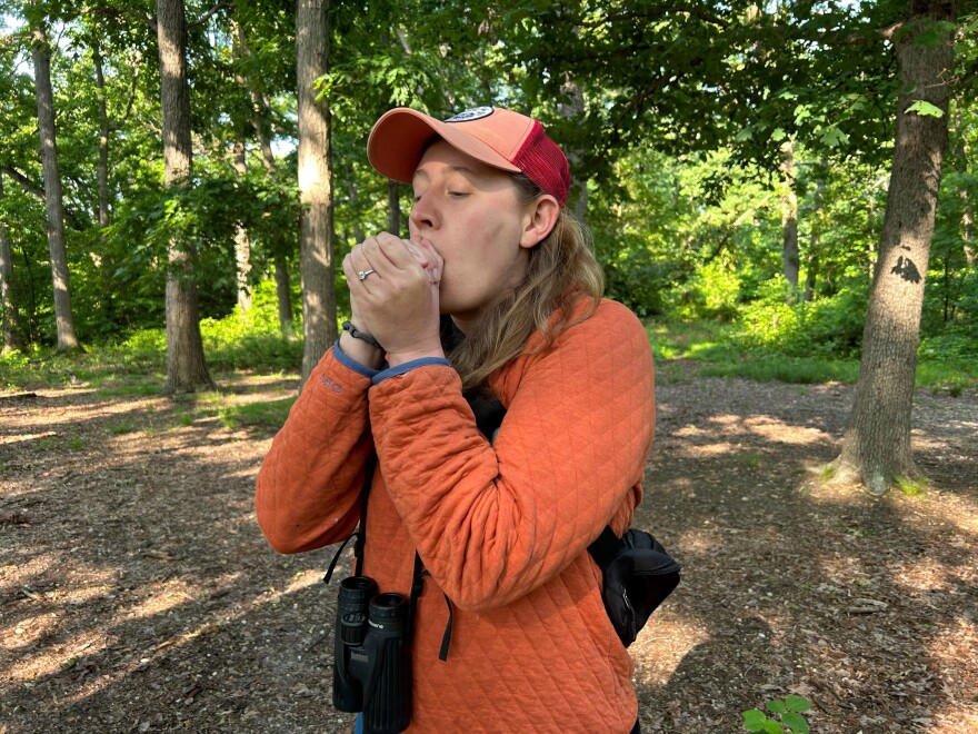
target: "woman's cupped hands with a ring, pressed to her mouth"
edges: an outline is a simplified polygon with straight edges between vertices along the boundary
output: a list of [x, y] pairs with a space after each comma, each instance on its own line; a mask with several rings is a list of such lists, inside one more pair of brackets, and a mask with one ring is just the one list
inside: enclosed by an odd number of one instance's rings
[[[383, 346], [392, 367], [419, 357], [443, 356], [439, 338], [438, 284], [442, 260], [425, 239], [380, 232], [343, 258], [351, 320]], [[372, 270], [362, 280], [358, 274]]]

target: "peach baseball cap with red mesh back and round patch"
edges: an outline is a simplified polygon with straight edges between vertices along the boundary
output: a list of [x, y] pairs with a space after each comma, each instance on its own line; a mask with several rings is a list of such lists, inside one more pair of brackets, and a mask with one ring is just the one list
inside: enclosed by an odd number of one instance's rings
[[367, 158], [383, 176], [410, 184], [425, 148], [436, 137], [483, 163], [522, 173], [560, 206], [567, 204], [567, 156], [539, 120], [500, 107], [477, 107], [447, 120], [398, 107], [373, 125]]

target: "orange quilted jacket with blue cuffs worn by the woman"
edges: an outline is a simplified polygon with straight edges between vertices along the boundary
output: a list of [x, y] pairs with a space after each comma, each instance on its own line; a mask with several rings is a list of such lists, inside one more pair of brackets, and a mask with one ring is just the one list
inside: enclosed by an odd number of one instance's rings
[[[601, 603], [587, 546], [621, 533], [641, 499], [655, 426], [648, 338], [605, 300], [555, 347], [523, 354], [492, 388], [492, 445], [458, 375], [418, 367], [372, 385], [330, 349], [258, 475], [256, 508], [280, 553], [345, 539], [376, 448], [365, 573], [410, 593], [431, 574], [413, 637], [411, 732], [613, 732], [637, 716], [632, 665]], [[448, 608], [451, 647], [438, 659]]]

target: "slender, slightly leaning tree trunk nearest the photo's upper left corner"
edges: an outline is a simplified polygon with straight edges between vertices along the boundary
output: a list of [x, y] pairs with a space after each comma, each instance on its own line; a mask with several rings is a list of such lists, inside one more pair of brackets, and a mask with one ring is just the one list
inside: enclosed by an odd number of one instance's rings
[[64, 205], [61, 175], [58, 171], [58, 143], [54, 139], [54, 92], [51, 89], [51, 48], [42, 22], [32, 31], [31, 56], [38, 101], [38, 132], [41, 139], [41, 166], [44, 171], [44, 205], [48, 216], [48, 248], [51, 254], [51, 281], [54, 288], [54, 318], [58, 351], [78, 349], [71, 290], [68, 282], [68, 249], [64, 244]]

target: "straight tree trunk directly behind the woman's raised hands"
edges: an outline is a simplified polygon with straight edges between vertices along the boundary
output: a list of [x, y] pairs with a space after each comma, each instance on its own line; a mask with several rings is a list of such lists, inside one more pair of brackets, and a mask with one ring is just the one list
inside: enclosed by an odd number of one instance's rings
[[302, 221], [302, 384], [337, 338], [332, 261], [329, 107], [317, 101], [316, 80], [329, 60], [329, 0], [298, 0], [296, 57], [299, 115], [299, 197]]

